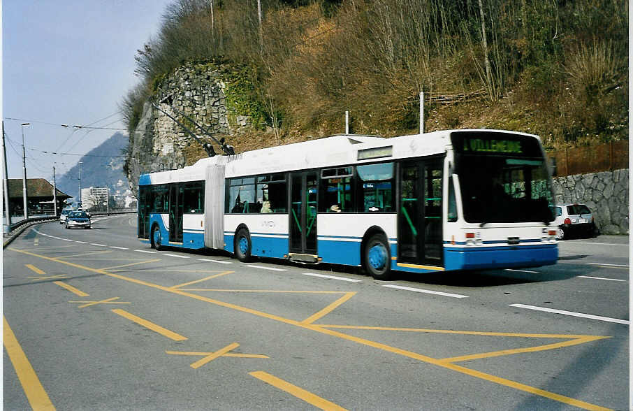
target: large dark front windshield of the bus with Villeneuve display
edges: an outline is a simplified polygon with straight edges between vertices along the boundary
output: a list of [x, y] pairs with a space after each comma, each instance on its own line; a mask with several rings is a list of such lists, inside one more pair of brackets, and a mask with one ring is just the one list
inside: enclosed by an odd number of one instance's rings
[[494, 132], [453, 135], [466, 222], [551, 222], [551, 180], [539, 142]]

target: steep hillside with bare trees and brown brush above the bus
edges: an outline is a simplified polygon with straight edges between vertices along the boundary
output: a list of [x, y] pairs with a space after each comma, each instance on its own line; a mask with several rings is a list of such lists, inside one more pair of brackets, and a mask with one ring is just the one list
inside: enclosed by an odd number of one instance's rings
[[[342, 132], [346, 110], [351, 132], [415, 133], [420, 91], [426, 131], [526, 131], [549, 149], [628, 138], [625, 1], [262, 0], [261, 14], [257, 3], [168, 6], [121, 103], [131, 136], [170, 76], [212, 64], [234, 68], [208, 87], [226, 86], [238, 152]], [[182, 150], [187, 164], [205, 156]]]

